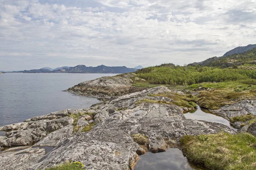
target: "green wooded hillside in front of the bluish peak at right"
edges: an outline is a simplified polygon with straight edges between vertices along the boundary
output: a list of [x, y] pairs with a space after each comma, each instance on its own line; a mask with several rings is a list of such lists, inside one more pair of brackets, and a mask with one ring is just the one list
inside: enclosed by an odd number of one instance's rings
[[212, 57], [206, 59], [202, 62], [194, 62], [189, 64], [192, 66], [201, 65], [201, 66], [209, 66], [209, 67], [221, 67], [221, 68], [228, 68], [234, 66], [243, 66], [242, 68], [252, 68], [256, 65], [256, 48], [253, 48], [249, 51], [238, 53], [238, 54], [231, 54], [228, 56], [222, 57]]

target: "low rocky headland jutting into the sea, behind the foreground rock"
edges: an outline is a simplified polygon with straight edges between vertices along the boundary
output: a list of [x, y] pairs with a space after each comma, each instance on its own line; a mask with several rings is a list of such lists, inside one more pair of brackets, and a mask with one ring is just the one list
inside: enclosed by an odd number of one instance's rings
[[[137, 79], [137, 80], [135, 80]], [[110, 97], [142, 91], [145, 88], [133, 87], [135, 81], [143, 81], [136, 74], [122, 74], [113, 77], [101, 77], [98, 79], [81, 82], [66, 91], [85, 96]], [[144, 80], [145, 81], [145, 80]]]

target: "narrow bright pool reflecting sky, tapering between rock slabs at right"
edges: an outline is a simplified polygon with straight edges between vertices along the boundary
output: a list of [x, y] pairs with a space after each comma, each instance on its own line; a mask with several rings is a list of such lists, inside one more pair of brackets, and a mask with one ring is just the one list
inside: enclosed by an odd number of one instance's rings
[[230, 127], [230, 129], [233, 129], [235, 131], [237, 130], [236, 128], [234, 128], [230, 125], [230, 122], [227, 119], [224, 119], [221, 116], [217, 116], [215, 114], [209, 113], [208, 110], [200, 108], [199, 106], [195, 112], [184, 113], [184, 116], [186, 117], [186, 119], [204, 120], [204, 121], [208, 121], [208, 122], [221, 123], [223, 125]]

